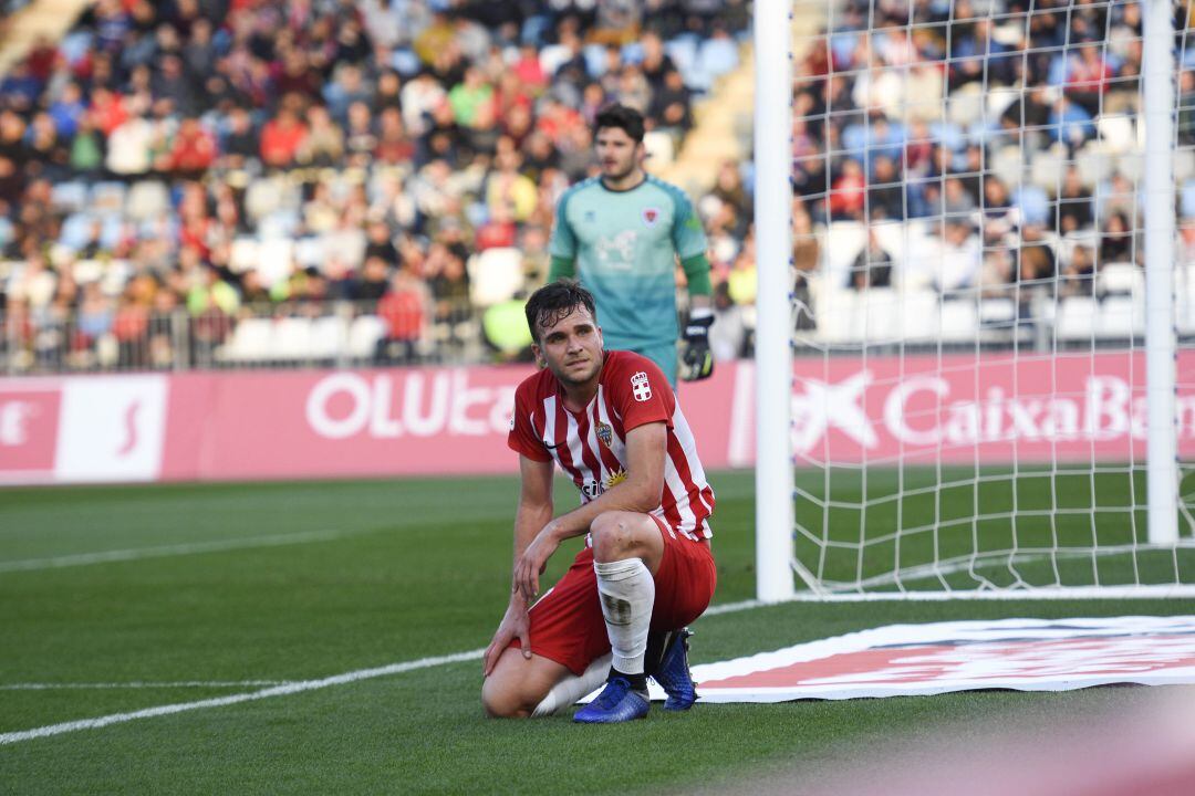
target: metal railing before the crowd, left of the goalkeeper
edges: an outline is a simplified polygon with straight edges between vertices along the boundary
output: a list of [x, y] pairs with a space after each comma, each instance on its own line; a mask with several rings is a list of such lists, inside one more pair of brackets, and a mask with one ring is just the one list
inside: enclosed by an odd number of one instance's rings
[[379, 302], [250, 304], [152, 311], [0, 314], [0, 374], [118, 372], [233, 368], [477, 364], [509, 358], [489, 346], [467, 302], [421, 311]]

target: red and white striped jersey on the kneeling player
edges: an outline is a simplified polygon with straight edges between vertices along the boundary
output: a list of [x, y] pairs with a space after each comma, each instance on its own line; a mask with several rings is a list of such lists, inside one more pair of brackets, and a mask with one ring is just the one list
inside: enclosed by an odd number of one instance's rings
[[588, 502], [626, 479], [626, 432], [649, 422], [668, 426], [664, 488], [651, 513], [690, 538], [710, 538], [713, 489], [668, 380], [646, 357], [607, 351], [598, 395], [581, 412], [565, 408], [552, 371], [526, 378], [515, 391], [507, 444], [537, 462], [554, 459]]

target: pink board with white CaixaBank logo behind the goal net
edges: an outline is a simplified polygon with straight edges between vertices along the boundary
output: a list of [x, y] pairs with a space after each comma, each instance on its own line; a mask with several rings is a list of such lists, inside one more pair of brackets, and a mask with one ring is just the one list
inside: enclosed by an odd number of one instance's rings
[[[972, 358], [936, 372], [891, 372], [877, 362], [831, 378], [798, 374], [793, 450], [835, 458], [940, 450], [949, 458], [985, 445], [1090, 455], [1092, 445], [1128, 453], [1144, 443], [1144, 369], [1123, 356], [1047, 365], [993, 372]], [[1175, 424], [1179, 444], [1195, 442], [1195, 393], [1176, 396]]]

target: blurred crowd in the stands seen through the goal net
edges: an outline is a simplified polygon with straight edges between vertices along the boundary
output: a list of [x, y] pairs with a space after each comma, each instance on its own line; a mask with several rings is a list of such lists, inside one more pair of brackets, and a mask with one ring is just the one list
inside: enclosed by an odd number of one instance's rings
[[[1189, 148], [1195, 51], [1177, 13]], [[1140, 266], [1141, 14], [1103, 0], [845, 0], [795, 87], [798, 239], [857, 222], [866, 233], [835, 286], [901, 279], [1012, 296], [1022, 313], [1035, 291], [1091, 296], [1104, 265]], [[1184, 154], [1176, 200], [1190, 260]], [[882, 234], [890, 222], [899, 234]], [[798, 269], [816, 265], [798, 257]]]

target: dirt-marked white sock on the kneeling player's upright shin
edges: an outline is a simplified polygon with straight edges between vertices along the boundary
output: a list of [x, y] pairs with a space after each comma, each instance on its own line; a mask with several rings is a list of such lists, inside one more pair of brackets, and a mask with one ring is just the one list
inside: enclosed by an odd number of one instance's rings
[[639, 559], [594, 562], [601, 612], [613, 650], [613, 666], [624, 674], [642, 674], [648, 629], [656, 603], [656, 581]]

